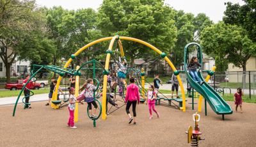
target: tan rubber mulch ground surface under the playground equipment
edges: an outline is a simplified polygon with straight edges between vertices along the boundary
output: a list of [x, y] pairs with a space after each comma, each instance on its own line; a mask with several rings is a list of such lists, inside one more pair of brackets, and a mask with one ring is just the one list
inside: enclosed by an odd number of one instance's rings
[[[18, 105], [12, 117], [13, 105], [1, 106], [0, 146], [190, 146], [185, 134], [194, 125], [190, 101], [186, 112], [156, 105], [160, 118], [154, 114], [152, 120], [147, 105], [140, 104], [137, 125], [128, 124], [124, 106], [105, 121], [100, 117], [95, 128], [87, 117], [87, 104], [79, 105], [77, 128], [67, 127], [67, 107], [54, 110], [45, 102], [34, 102], [32, 109]], [[228, 103], [234, 109], [234, 102]], [[256, 146], [255, 104], [243, 103], [244, 112], [227, 115], [225, 121], [209, 105], [207, 108], [207, 116], [204, 107], [201, 112], [199, 127], [205, 140], [199, 146]]]

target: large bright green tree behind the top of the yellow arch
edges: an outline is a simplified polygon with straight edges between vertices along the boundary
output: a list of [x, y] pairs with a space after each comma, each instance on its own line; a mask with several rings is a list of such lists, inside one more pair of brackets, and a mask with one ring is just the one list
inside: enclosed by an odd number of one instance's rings
[[[104, 0], [99, 8], [98, 28], [103, 35], [132, 36], [169, 53], [177, 36], [174, 15], [174, 10], [164, 6], [162, 0]], [[123, 45], [131, 66], [136, 58], [156, 58], [154, 52], [138, 43], [124, 42]]]

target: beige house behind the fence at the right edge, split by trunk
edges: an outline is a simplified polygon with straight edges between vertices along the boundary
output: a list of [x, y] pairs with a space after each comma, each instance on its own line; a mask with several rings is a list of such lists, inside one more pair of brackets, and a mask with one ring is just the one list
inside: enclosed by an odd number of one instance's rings
[[[246, 82], [249, 82], [249, 71], [251, 82], [256, 82], [256, 58], [251, 57], [246, 62]], [[226, 71], [229, 82], [242, 82], [243, 81], [243, 68], [238, 68], [234, 64], [228, 64]]]

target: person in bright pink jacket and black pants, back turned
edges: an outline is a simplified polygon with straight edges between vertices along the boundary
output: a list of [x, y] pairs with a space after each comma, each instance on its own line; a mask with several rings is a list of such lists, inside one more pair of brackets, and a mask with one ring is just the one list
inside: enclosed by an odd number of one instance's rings
[[[133, 120], [133, 124], [136, 125], [136, 121], [135, 121], [135, 117], [136, 117], [136, 104], [138, 102], [138, 104], [140, 104], [140, 92], [139, 92], [139, 88], [136, 84], [134, 84], [134, 78], [131, 77], [130, 78], [130, 82], [131, 84], [129, 84], [129, 86], [127, 86], [127, 91], [126, 91], [126, 96], [125, 96], [125, 103], [126, 104], [126, 112], [129, 116], [129, 123], [132, 122]], [[133, 112], [133, 117], [131, 116], [129, 109], [132, 105], [132, 112]]]

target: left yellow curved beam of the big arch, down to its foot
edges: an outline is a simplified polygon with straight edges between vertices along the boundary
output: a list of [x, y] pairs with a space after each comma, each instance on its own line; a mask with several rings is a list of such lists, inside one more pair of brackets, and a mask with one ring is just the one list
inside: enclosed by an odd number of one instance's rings
[[[81, 47], [81, 49], [77, 50], [77, 52], [74, 54], [75, 56], [79, 55], [81, 52], [83, 52], [83, 50], [87, 49], [88, 47], [92, 46], [92, 45], [95, 45], [97, 43], [100, 43], [100, 42], [104, 42], [106, 40], [111, 40], [112, 37], [106, 37], [106, 38], [100, 38], [99, 40], [95, 40], [91, 43], [88, 43], [86, 45], [84, 45], [83, 47]], [[64, 68], [67, 68], [68, 65], [70, 65], [72, 59], [68, 59], [67, 63], [65, 63], [65, 66]], [[59, 76], [58, 77], [58, 80], [57, 80], [57, 84], [56, 84], [56, 88], [55, 88], [55, 91], [52, 95], [52, 100], [57, 100], [57, 95], [58, 95], [58, 88], [60, 87], [60, 82], [61, 82], [61, 79], [62, 77]], [[54, 105], [53, 103], [51, 103], [51, 107], [56, 109], [57, 108], [57, 105]]]

